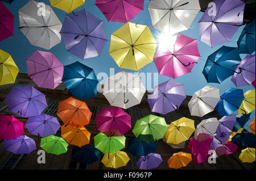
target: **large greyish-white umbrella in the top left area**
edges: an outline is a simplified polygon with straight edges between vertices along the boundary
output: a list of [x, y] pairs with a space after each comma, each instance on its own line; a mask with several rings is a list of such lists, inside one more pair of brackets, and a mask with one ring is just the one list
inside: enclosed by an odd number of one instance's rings
[[41, 9], [39, 2], [28, 1], [19, 10], [19, 30], [32, 45], [51, 49], [61, 41], [59, 32], [62, 24], [51, 6], [44, 5], [44, 11]]

